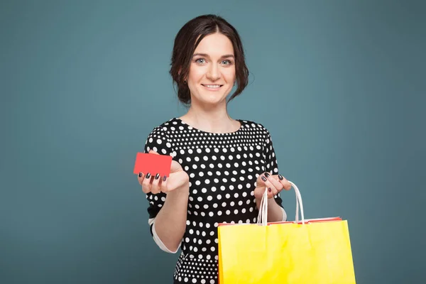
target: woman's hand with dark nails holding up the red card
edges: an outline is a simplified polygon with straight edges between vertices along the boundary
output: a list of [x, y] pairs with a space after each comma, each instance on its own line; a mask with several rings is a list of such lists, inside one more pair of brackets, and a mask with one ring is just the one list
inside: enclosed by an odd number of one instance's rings
[[[150, 154], [160, 155], [151, 150]], [[148, 175], [149, 174], [149, 175]], [[148, 177], [147, 177], [148, 175]], [[156, 178], [156, 179], [155, 179]], [[170, 167], [170, 175], [168, 178], [161, 177], [157, 173], [139, 173], [138, 182], [142, 185], [142, 191], [145, 193], [152, 192], [154, 195], [158, 192], [170, 192], [182, 187], [189, 188], [190, 177], [185, 170], [182, 169], [180, 163], [172, 160]]]

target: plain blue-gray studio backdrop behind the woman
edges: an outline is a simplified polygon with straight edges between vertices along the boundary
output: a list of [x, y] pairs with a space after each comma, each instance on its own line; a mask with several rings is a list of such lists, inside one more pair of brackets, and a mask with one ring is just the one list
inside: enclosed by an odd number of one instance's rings
[[[308, 218], [349, 220], [358, 283], [425, 283], [422, 1], [1, 1], [0, 283], [170, 283], [133, 175], [185, 114], [168, 75], [190, 18], [241, 33], [236, 119], [273, 135]], [[294, 192], [284, 194], [294, 219]]]

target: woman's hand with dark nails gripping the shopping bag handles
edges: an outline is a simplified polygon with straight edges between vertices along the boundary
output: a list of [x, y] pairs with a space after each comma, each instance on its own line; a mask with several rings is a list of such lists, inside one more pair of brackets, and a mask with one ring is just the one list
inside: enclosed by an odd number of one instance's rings
[[256, 197], [257, 200], [261, 200], [265, 190], [268, 190], [268, 198], [272, 198], [283, 189], [290, 190], [291, 184], [282, 175], [263, 173], [259, 175], [256, 180], [254, 197]]

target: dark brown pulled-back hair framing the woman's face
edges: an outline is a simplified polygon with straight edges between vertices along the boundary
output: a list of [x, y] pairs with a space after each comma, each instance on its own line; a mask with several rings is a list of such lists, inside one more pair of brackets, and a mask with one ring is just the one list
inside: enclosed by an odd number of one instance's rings
[[175, 37], [170, 63], [170, 75], [178, 86], [178, 99], [185, 105], [191, 103], [190, 89], [184, 80], [190, 72], [191, 59], [195, 48], [206, 35], [217, 32], [226, 35], [231, 40], [235, 53], [237, 88], [229, 101], [241, 94], [249, 82], [249, 69], [246, 66], [241, 38], [236, 29], [220, 16], [212, 14], [197, 16], [180, 28]]

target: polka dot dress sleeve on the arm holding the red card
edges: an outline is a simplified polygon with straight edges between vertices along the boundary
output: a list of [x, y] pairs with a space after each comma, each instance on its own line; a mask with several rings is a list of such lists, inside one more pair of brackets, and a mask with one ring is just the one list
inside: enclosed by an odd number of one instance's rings
[[[149, 133], [148, 138], [146, 138], [144, 153], [148, 153], [150, 150], [153, 150], [160, 155], [171, 155], [175, 160], [176, 153], [173, 151], [171, 141], [169, 141], [165, 130], [160, 128], [160, 126], [155, 127], [155, 129]], [[155, 173], [151, 173], [151, 175], [155, 175]], [[163, 207], [165, 198], [166, 194], [164, 192], [159, 192], [155, 195], [151, 192], [146, 194], [146, 200], [148, 200], [148, 224], [151, 235], [160, 249], [169, 253], [175, 253], [176, 251], [168, 250], [155, 233], [155, 217], [157, 217], [158, 212], [160, 212], [161, 207]]]

